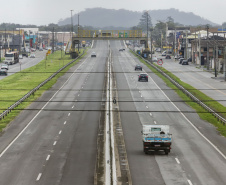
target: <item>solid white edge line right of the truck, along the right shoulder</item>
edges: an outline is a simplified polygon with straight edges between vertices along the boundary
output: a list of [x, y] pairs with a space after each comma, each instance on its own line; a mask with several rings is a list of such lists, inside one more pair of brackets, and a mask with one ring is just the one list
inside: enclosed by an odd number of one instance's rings
[[150, 79], [153, 81], [153, 83], [156, 85], [156, 87], [163, 93], [163, 95], [170, 101], [170, 103], [180, 112], [180, 114], [184, 117], [184, 119], [187, 120], [187, 122], [198, 132], [200, 136], [202, 136], [224, 159], [226, 159], [226, 156], [209, 140], [204, 136], [198, 128], [195, 127], [195, 125], [184, 115], [184, 113], [181, 112], [181, 110], [170, 100], [170, 98], [163, 92], [163, 90], [155, 83], [155, 81], [150, 77]]

